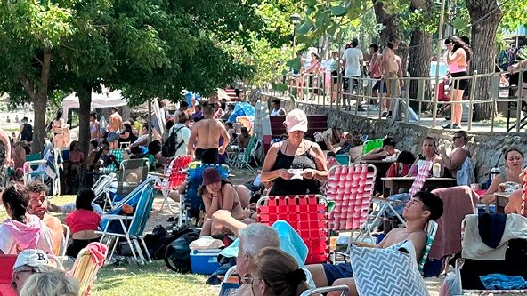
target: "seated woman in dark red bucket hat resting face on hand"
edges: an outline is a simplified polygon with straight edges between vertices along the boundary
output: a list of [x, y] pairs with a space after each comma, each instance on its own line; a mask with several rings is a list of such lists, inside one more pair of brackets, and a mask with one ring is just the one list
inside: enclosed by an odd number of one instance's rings
[[[231, 182], [222, 180], [222, 176], [215, 168], [211, 167], [203, 171], [203, 183], [198, 188], [198, 195], [203, 199], [206, 215], [200, 236], [214, 235], [212, 215], [218, 210], [231, 212], [234, 219], [244, 219], [241, 200], [236, 189], [232, 187]], [[255, 222], [251, 219], [245, 221], [246, 223]]]

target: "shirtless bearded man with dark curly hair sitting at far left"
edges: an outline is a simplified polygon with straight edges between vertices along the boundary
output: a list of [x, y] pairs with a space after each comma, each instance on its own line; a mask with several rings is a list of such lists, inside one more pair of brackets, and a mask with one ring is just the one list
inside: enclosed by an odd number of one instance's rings
[[36, 215], [36, 217], [40, 218], [52, 230], [53, 253], [58, 255], [61, 250], [64, 231], [61, 220], [47, 212], [47, 186], [40, 180], [33, 180], [28, 184], [28, 192], [28, 213]]

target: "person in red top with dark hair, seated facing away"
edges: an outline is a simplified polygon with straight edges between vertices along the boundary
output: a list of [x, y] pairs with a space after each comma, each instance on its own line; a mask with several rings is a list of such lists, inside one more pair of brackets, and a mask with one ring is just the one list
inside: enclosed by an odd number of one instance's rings
[[93, 212], [94, 198], [92, 189], [82, 190], [75, 202], [77, 210], [66, 217], [66, 225], [71, 229], [73, 240], [66, 250], [66, 255], [70, 257], [77, 257], [78, 252], [88, 244], [99, 241], [99, 235], [95, 234], [95, 231], [99, 230], [101, 215]]

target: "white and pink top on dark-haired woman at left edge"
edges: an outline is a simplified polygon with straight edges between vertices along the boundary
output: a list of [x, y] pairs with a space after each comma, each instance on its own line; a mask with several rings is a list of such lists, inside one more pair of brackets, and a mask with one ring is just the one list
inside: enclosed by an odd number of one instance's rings
[[[40, 239], [36, 243], [35, 246], [29, 246], [30, 249], [39, 249], [46, 253], [52, 253], [53, 252], [53, 240], [52, 240], [52, 230], [48, 228], [44, 222], [42, 222], [38, 217], [35, 215], [27, 215], [29, 224], [32, 225], [40, 225]], [[4, 220], [4, 223], [9, 222], [11, 219]], [[17, 243], [14, 240], [14, 237], [11, 236], [8, 228], [2, 223], [0, 225], [0, 250], [4, 252], [4, 254], [12, 254], [16, 255], [19, 250], [17, 250]], [[24, 229], [20, 228], [20, 231], [23, 231]], [[22, 250], [20, 250], [22, 251]]]

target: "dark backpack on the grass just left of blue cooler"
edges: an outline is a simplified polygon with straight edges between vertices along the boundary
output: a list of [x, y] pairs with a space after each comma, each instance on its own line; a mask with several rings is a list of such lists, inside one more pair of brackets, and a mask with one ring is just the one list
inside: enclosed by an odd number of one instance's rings
[[189, 244], [199, 238], [198, 232], [189, 232], [171, 244], [166, 246], [165, 264], [167, 268], [179, 273], [188, 273], [191, 271], [191, 248]]

